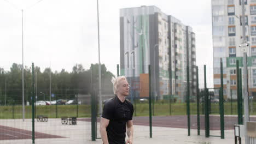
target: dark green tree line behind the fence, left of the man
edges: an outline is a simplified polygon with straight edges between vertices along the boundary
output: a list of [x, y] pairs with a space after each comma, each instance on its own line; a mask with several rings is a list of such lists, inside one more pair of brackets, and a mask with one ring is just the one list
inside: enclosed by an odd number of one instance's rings
[[[101, 64], [102, 94], [113, 94], [111, 79], [114, 77]], [[60, 72], [34, 67], [35, 93], [37, 100], [74, 99], [76, 94], [90, 94], [98, 90], [98, 64], [84, 69], [82, 64], [73, 66], [72, 71]], [[50, 95], [51, 82], [51, 95]], [[92, 83], [92, 86], [91, 86]], [[31, 101], [32, 68], [24, 67], [24, 99]], [[22, 104], [22, 65], [13, 63], [9, 71], [0, 68], [0, 104]]]

